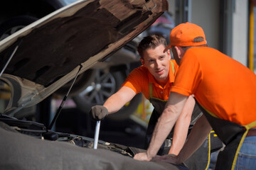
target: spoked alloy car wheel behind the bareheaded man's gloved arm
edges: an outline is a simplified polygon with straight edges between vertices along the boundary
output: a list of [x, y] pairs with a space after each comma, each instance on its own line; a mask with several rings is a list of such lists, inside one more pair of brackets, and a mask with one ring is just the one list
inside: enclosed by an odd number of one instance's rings
[[[90, 86], [87, 86], [80, 94], [74, 96], [73, 100], [81, 111], [88, 113], [92, 106], [103, 105], [107, 98], [118, 91], [125, 79], [124, 72], [104, 72], [102, 69], [97, 69], [95, 81], [92, 81]], [[117, 113], [109, 115], [108, 118], [112, 120], [129, 118], [129, 115], [136, 111], [141, 100], [141, 94], [135, 96]]]

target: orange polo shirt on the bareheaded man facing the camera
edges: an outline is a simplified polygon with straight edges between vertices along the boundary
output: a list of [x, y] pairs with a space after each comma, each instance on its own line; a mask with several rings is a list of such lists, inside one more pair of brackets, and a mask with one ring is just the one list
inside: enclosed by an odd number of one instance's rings
[[132, 70], [122, 86], [131, 88], [136, 94], [142, 93], [149, 99], [149, 83], [152, 83], [153, 97], [160, 98], [161, 100], [168, 100], [172, 83], [178, 72], [178, 64], [176, 64], [175, 60], [171, 61], [174, 62], [175, 74], [172, 71], [171, 62], [169, 62], [169, 81], [164, 87], [156, 82], [153, 75], [143, 65]]

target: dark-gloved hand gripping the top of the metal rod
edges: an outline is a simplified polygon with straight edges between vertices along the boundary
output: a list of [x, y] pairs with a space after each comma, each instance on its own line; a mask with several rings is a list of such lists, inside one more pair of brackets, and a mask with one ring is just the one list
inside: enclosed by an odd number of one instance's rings
[[108, 115], [107, 108], [104, 106], [93, 106], [89, 112], [93, 120], [102, 120]]

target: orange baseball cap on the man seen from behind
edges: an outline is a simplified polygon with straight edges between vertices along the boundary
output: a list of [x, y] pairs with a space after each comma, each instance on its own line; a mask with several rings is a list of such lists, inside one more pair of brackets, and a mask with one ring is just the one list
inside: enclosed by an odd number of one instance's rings
[[[195, 41], [195, 38], [202, 37], [203, 40]], [[206, 45], [206, 35], [203, 28], [194, 23], [181, 23], [176, 26], [170, 33], [170, 44], [166, 47], [164, 52], [171, 48], [171, 46], [189, 47], [196, 45]]]

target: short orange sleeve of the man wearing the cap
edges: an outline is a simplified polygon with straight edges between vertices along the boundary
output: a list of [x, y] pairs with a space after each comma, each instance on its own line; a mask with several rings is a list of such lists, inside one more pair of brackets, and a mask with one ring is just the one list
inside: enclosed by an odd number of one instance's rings
[[188, 49], [181, 60], [171, 91], [185, 96], [195, 94], [202, 79], [203, 75], [198, 58], [196, 57], [196, 52], [193, 52], [192, 49]]

